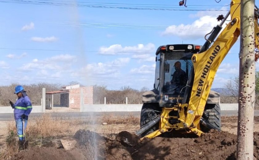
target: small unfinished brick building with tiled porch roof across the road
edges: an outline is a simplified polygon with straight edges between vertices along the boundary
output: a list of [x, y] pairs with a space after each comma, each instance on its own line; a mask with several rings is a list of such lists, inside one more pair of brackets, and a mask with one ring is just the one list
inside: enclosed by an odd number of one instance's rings
[[[83, 89], [84, 104], [93, 104], [93, 86], [80, 87], [80, 85], [64, 86], [61, 90], [46, 92], [46, 108], [69, 107], [80, 108], [80, 91]], [[54, 104], [54, 94], [60, 94], [60, 103]]]

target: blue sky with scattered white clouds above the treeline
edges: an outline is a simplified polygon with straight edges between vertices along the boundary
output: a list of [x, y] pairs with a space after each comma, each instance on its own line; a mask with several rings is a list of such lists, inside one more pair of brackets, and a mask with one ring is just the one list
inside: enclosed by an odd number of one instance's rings
[[[203, 45], [204, 35], [220, 23], [216, 17], [227, 13], [229, 3], [188, 0], [185, 7], [179, 0], [0, 1], [0, 85], [76, 81], [111, 90], [152, 89], [157, 48]], [[238, 75], [239, 45], [238, 40], [221, 63], [212, 88]]]

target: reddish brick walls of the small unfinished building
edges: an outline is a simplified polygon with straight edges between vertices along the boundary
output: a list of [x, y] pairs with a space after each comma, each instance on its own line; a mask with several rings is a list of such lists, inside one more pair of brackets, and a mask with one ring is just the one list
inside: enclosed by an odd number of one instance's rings
[[80, 90], [83, 88], [84, 104], [93, 104], [93, 86], [69, 90], [69, 108], [80, 108]]

